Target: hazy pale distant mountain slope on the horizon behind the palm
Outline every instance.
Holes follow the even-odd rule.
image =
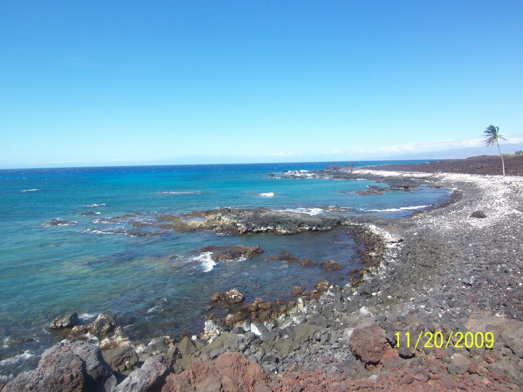
[[[523,143],[500,144],[503,154],[514,154],[523,150]],[[470,147],[447,149],[444,151],[430,151],[416,154],[404,154],[382,157],[380,159],[463,159],[476,155],[498,155],[496,147]]]

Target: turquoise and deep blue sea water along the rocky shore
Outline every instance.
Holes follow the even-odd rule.
[[[342,206],[351,209],[349,215],[394,218],[449,197],[446,189],[428,187],[360,196],[354,192],[375,183],[269,178],[271,172],[326,165],[0,170],[0,376],[34,364],[43,349],[61,339],[47,326],[65,312],[88,319],[111,310],[134,339],[143,341],[186,329],[196,333],[203,327],[203,307],[216,291],[236,287],[249,301],[274,300],[289,296],[293,285],[310,289],[320,277],[339,279],[339,272],[268,260],[282,250],[317,261],[333,259],[346,271],[352,266],[353,241],[343,231],[228,236],[154,229],[142,237],[135,236],[141,228],[133,223],[160,213],[259,206],[309,213]],[[124,215],[131,216],[114,219]],[[75,224],[46,225],[54,218]],[[211,268],[198,252],[204,245],[258,245],[265,252]]]

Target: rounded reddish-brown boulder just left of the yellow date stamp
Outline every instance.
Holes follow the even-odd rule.
[[[373,320],[361,322],[349,338],[350,351],[365,364],[377,364],[389,350],[385,331]]]

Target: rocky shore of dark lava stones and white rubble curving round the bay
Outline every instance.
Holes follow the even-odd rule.
[[[293,287],[295,301],[286,303],[246,304],[231,287],[211,298],[208,310],[222,306],[225,316],[210,314],[200,336],[157,337],[142,346],[110,313],[85,326],[74,313],[64,315],[53,321],[53,333],[74,339],[54,345],[36,370],[0,390],[521,390],[523,157],[505,158],[506,176],[498,159],[308,174],[379,180],[404,191],[420,184],[454,189],[448,203],[399,220],[263,209],[200,212],[197,228],[169,218],[179,229],[243,228],[235,234],[348,230],[363,268],[350,271],[348,283]],[[259,251],[220,249],[217,257]],[[281,257],[303,268],[311,262]]]

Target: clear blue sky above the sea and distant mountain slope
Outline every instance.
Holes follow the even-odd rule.
[[[3,2],[0,168],[521,142],[522,20],[520,0]]]

